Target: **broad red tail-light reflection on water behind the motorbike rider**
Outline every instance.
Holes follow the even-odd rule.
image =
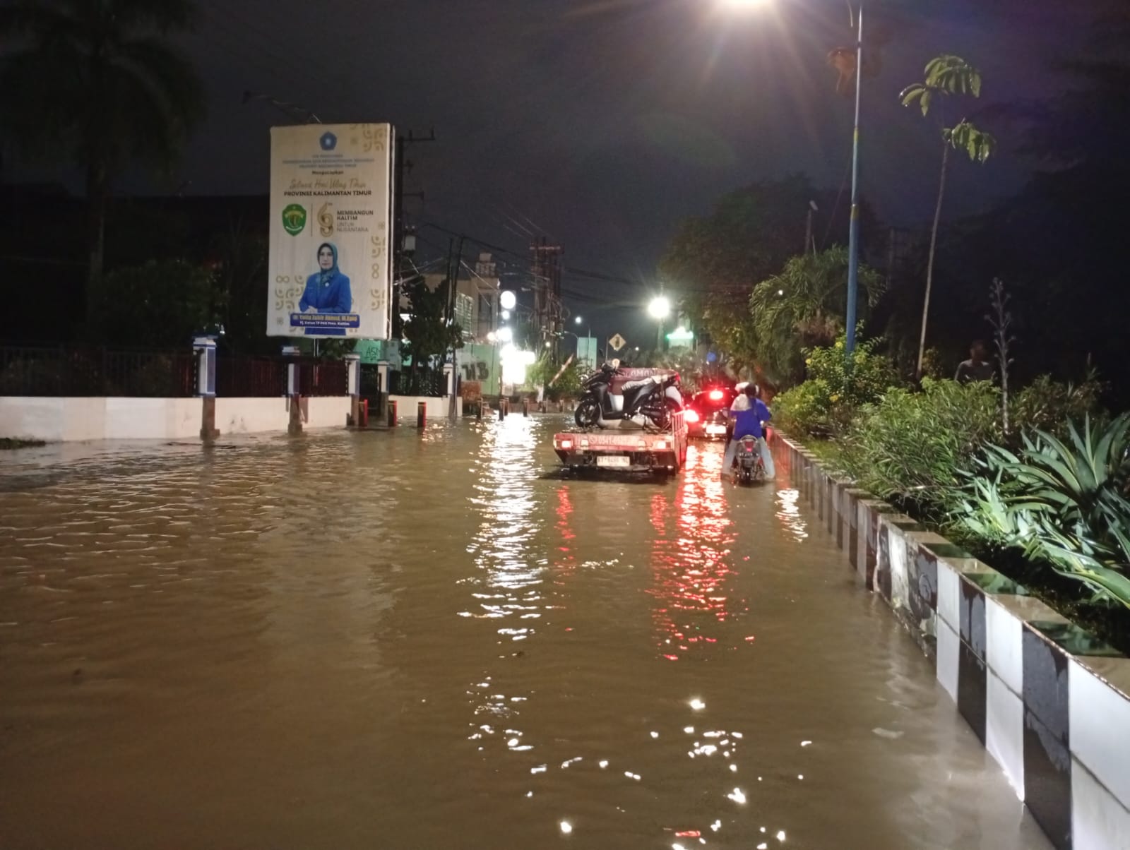
[[[718,636],[705,628],[732,613],[723,582],[733,572],[729,547],[734,532],[719,476],[721,462],[718,452],[688,449],[675,496],[673,539],[667,528],[670,502],[662,494],[651,501],[654,584],[649,592],[659,601],[652,618],[660,632],[660,651],[672,661],[694,644],[715,643]],[[696,614],[711,616],[704,621]]]

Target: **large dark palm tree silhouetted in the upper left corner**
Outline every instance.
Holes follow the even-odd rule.
[[[203,118],[203,84],[162,37],[188,29],[193,12],[191,0],[16,0],[0,9],[0,133],[27,158],[85,172],[88,284],[102,278],[114,177],[133,161],[171,166]]]

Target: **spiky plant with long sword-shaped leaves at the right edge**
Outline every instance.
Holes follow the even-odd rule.
[[[1069,440],[1025,434],[1014,454],[999,445],[976,465],[958,527],[1130,608],[1130,414],[1103,427],[1068,424]]]

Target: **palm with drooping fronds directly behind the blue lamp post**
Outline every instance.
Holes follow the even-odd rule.
[[[860,319],[883,294],[883,277],[860,266],[866,303]],[[834,245],[818,254],[793,257],[780,275],[762,280],[749,296],[757,359],[774,383],[800,376],[802,350],[832,345],[844,330],[847,301],[847,249]],[[861,298],[862,301],[862,298]]]

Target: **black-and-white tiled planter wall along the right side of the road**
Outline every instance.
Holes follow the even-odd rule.
[[[780,434],[814,508],[1057,848],[1130,850],[1130,659]]]

